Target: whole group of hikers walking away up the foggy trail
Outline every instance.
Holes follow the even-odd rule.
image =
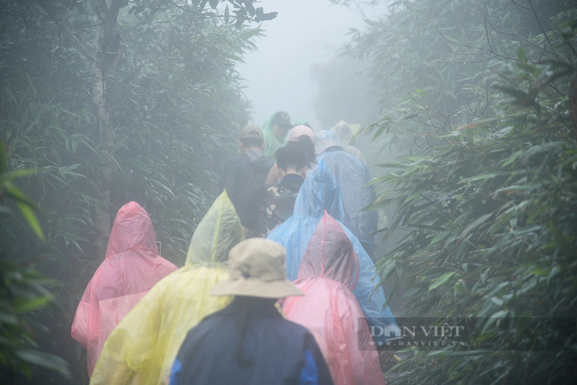
[[[351,138],[283,111],[243,128],[178,269],[148,213],[123,205],[72,324],[90,383],[384,384],[370,327],[395,319]]]

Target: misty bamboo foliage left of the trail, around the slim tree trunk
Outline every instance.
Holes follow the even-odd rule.
[[[83,38],[98,32],[91,3],[40,3],[62,5]],[[76,363],[77,382],[87,375],[70,324],[102,261],[95,257],[97,215],[114,219],[119,207],[137,201],[151,215],[163,256],[182,264],[182,250],[216,193],[227,137],[248,121],[234,65],[262,30],[234,28],[232,16],[225,20],[205,6],[138,0],[120,9],[121,54],[106,59],[104,73],[114,143],[107,151],[91,63],[79,46],[36,2],[0,1],[0,136],[8,170],[36,174],[13,185],[46,211],[39,222],[45,243],[8,217],[0,218],[0,242],[11,260],[42,255],[36,267],[61,283],[55,295],[63,312],[47,311],[42,322],[58,340],[54,352]],[[96,192],[110,159],[109,205]]]

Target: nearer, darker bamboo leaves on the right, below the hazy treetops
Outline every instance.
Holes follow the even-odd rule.
[[[476,322],[466,346],[407,348],[389,383],[575,382],[575,333],[563,339],[555,327],[577,316],[576,20],[568,9],[545,35],[494,44],[500,56],[456,91],[473,100],[443,109],[430,97],[438,89],[422,90],[412,110],[401,101],[375,125],[376,136],[395,127],[432,143],[384,163],[398,170],[375,181],[387,190],[373,205],[396,206],[384,236],[406,230],[381,277],[395,282],[406,316]]]

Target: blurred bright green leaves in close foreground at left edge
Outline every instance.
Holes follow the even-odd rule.
[[[0,141],[0,218],[14,215],[4,203],[10,199],[16,203],[28,225],[40,239],[44,239],[42,229],[34,213],[36,204],[28,199],[12,182],[30,174],[29,170],[6,170],[5,144]],[[0,250],[0,380],[12,381],[18,375],[31,377],[35,366],[51,369],[72,380],[68,363],[54,354],[38,350],[36,339],[40,329],[31,327],[27,320],[30,312],[46,306],[53,298],[46,289],[53,284],[51,279],[40,276],[30,266],[12,263],[4,258]]]

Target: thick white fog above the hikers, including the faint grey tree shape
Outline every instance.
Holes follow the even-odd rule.
[[[279,110],[293,121],[307,119],[316,132],[340,119],[366,121],[372,112],[368,85],[355,75],[362,63],[339,58],[350,28],[363,28],[362,14],[328,0],[271,0],[264,6],[279,14],[263,23],[267,36],[238,67],[252,100],[253,123],[262,125]],[[374,9],[362,11],[372,16]]]

